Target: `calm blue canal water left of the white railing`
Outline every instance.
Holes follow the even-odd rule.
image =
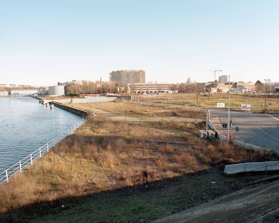
[[[0,173],[80,120],[35,98],[0,98]]]

